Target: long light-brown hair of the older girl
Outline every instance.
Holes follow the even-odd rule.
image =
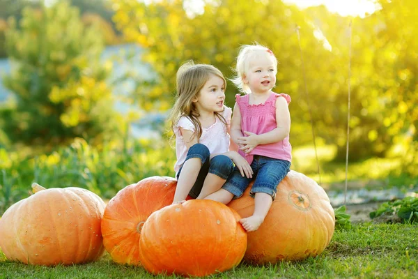
[[[174,126],[180,120],[180,117],[187,116],[192,121],[194,126],[194,135],[197,136],[198,141],[202,135],[202,126],[198,119],[200,116],[196,110],[193,100],[199,95],[199,92],[203,86],[208,82],[211,75],[224,80],[224,86],[226,88],[226,80],[221,71],[212,65],[207,64],[194,64],[193,61],[187,61],[177,71],[177,92],[176,103],[174,103],[173,110],[169,115],[169,126],[173,131]],[[226,125],[224,116],[219,112],[215,112],[215,116]],[[172,138],[174,135],[172,136]]]

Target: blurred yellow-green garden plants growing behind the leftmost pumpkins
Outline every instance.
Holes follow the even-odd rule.
[[[49,154],[0,148],[0,216],[27,197],[31,183],[45,188],[80,187],[111,199],[118,190],[150,176],[174,176],[176,152],[162,141],[114,140],[92,146],[76,138]]]

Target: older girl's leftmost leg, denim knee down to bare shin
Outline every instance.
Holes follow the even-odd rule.
[[[202,165],[206,163],[206,160],[209,160],[209,157],[209,149],[205,145],[194,144],[190,146],[185,163],[180,169],[173,204],[186,199],[196,182]]]

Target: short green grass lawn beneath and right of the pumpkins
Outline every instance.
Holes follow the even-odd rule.
[[[208,278],[418,278],[418,224],[359,223],[337,231],[316,258],[247,266]],[[0,262],[0,278],[176,278],[152,276],[141,267],[123,266],[105,255],[75,266],[26,266]]]

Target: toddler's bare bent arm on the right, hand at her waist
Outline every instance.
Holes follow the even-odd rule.
[[[277,128],[261,135],[245,131],[246,136],[238,138],[238,144],[243,145],[241,149],[245,153],[249,153],[260,144],[280,142],[289,135],[291,130],[291,114],[288,103],[283,97],[277,98],[276,100],[276,123]]]

